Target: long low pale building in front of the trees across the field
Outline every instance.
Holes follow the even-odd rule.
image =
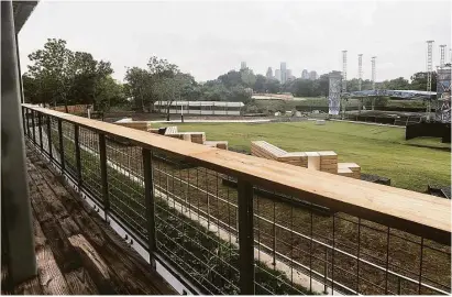
[[[157,101],[155,110],[165,113],[168,101]],[[173,101],[169,113],[200,114],[200,116],[241,116],[243,102],[229,101]]]

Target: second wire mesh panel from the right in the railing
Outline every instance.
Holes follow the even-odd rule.
[[[219,173],[153,151],[159,253],[206,294],[239,294],[236,190]]]

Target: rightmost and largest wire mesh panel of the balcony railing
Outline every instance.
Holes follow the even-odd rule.
[[[254,213],[256,293],[451,290],[450,246],[422,246],[419,237],[258,187]]]

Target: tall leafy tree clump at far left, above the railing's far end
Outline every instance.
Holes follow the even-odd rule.
[[[109,62],[96,61],[91,54],[73,52],[66,41],[49,38],[43,50],[29,55],[32,62],[23,75],[24,96],[27,102],[56,105],[98,105],[120,98],[121,87],[110,87],[109,98],[102,88],[113,70]],[[114,81],[114,80],[113,80]],[[119,85],[114,81],[115,85]],[[118,94],[111,95],[117,90]]]

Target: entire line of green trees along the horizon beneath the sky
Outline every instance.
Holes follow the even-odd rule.
[[[90,53],[74,52],[59,38],[48,38],[42,50],[29,55],[31,65],[23,75],[26,102],[53,106],[93,105],[95,110],[107,111],[113,106],[132,106],[139,111],[154,110],[157,101],[173,100],[242,101],[251,100],[253,92],[290,92],[296,97],[327,97],[328,74],[318,79],[295,79],[282,85],[275,78],[255,75],[245,68],[230,70],[217,79],[198,82],[177,65],[151,56],[146,67],[129,67],[124,82],[112,78],[110,62],[97,61]],[[432,76],[436,90],[437,76]],[[425,90],[427,73],[416,73],[410,81],[403,77],[376,82],[378,89]],[[356,78],[348,80],[348,91],[359,90]],[[372,89],[372,81],[362,80],[362,89]]]

